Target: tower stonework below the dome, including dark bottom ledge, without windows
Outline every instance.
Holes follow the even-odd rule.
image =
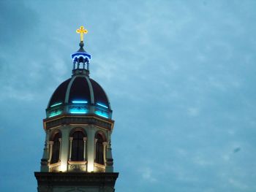
[[[41,161],[41,172],[35,172],[38,192],[112,192],[118,173],[113,172],[113,158],[110,147],[110,136],[113,120],[91,116],[61,115],[44,120],[46,145]],[[86,161],[70,161],[70,134],[72,131],[86,132]],[[50,164],[53,145],[52,134],[61,132],[59,162]],[[104,164],[95,162],[95,135],[104,134]],[[46,162],[46,163],[45,163]]]

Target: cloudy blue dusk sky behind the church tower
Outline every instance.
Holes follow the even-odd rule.
[[[0,1],[0,191],[37,191],[51,94],[89,33],[116,191],[256,191],[256,1]],[[14,190],[15,188],[15,190]]]

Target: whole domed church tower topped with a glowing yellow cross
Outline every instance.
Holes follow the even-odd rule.
[[[50,98],[43,120],[45,147],[40,172],[35,172],[38,192],[115,191],[111,133],[114,121],[103,88],[89,77],[91,55],[83,49],[71,55],[72,77]]]

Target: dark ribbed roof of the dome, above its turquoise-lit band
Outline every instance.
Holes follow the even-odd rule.
[[[89,105],[99,104],[110,110],[110,102],[103,88],[86,75],[74,75],[62,82],[51,96],[48,108],[56,104],[72,104],[74,102],[86,102]]]

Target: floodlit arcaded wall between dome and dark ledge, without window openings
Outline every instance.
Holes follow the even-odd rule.
[[[67,123],[68,122],[68,123]],[[41,172],[111,172],[112,166],[108,160],[112,158],[110,153],[110,135],[113,129],[113,120],[103,120],[95,115],[89,116],[66,116],[61,115],[57,118],[47,118],[44,120],[46,136],[46,149],[41,162]],[[82,130],[86,133],[84,138],[84,161],[70,161],[72,147],[72,131]],[[51,164],[53,153],[53,134],[61,133],[59,162]],[[95,162],[97,133],[102,134],[103,159],[104,164]],[[46,153],[46,154],[45,154]],[[47,161],[47,164],[43,162]],[[108,168],[108,169],[106,169]],[[113,171],[112,171],[113,172]]]

